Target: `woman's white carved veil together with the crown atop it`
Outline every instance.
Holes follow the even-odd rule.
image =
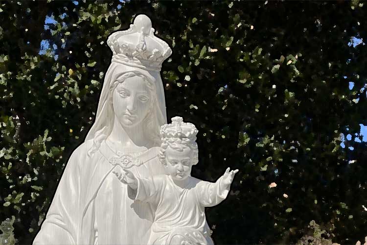
[[[108,136],[111,133],[114,112],[112,103],[109,102],[112,97],[110,88],[118,77],[133,72],[143,75],[155,87],[156,102],[149,116],[158,134],[151,140],[153,146],[160,146],[159,128],[167,123],[160,70],[161,63],[172,53],[172,50],[154,35],[154,29],[151,26],[147,16],[138,15],[128,30],[114,32],[108,38],[107,43],[113,51],[112,62],[104,78],[96,118],[86,141],[95,139],[98,135]]]

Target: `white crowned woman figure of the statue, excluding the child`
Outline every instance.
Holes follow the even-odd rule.
[[[155,207],[128,198],[114,172],[164,173],[157,158],[167,123],[160,71],[172,51],[145,15],[107,44],[113,56],[95,122],[69,158],[34,245],[148,243]]]

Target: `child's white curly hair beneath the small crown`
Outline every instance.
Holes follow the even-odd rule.
[[[159,159],[162,165],[167,165],[165,151],[167,147],[171,147],[177,151],[183,151],[184,148],[189,147],[191,149],[191,164],[196,165],[199,162],[199,150],[198,144],[195,139],[190,138],[162,138],[161,150],[159,153]]]

